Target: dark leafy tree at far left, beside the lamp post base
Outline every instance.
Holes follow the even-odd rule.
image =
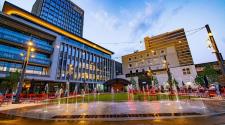
[[[7,89],[8,91],[9,90],[15,91],[17,84],[19,82],[19,79],[20,79],[20,73],[18,71],[11,72],[8,76],[2,79],[0,87],[3,89],[3,91],[6,91]]]

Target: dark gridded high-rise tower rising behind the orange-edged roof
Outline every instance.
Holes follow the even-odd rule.
[[[32,13],[70,33],[83,36],[84,11],[70,0],[36,0]]]

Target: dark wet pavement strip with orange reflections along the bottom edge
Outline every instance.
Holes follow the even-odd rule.
[[[210,117],[136,121],[37,120],[0,115],[0,125],[225,125],[225,114]]]

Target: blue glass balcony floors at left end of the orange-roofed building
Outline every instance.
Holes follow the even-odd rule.
[[[36,36],[31,37],[6,25],[1,25],[0,27],[0,71],[21,71],[22,62],[25,58],[25,56],[21,55],[26,55],[26,44],[30,39],[35,44],[37,51],[32,53],[34,57],[30,59],[30,65],[27,67],[26,73],[35,75],[48,74],[47,67],[51,64],[49,57],[53,51],[51,43]]]

